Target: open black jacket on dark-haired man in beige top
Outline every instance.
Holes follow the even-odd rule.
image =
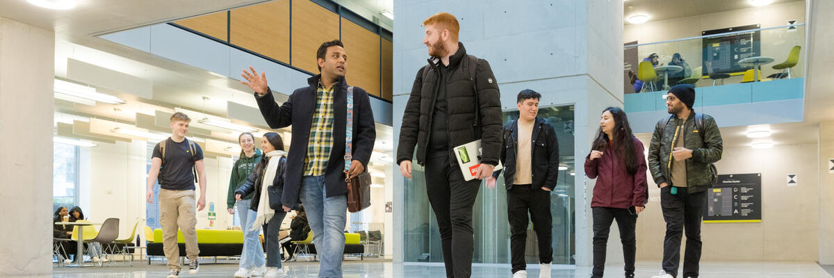
[[[515,156],[518,152],[519,128],[518,119],[504,124],[504,144],[501,151],[501,162],[504,164],[504,186],[510,190],[515,179]],[[542,186],[553,190],[559,178],[559,141],[556,131],[546,119],[535,118],[533,140],[530,149],[530,166],[532,169],[533,188]],[[500,171],[492,174],[498,178]]]

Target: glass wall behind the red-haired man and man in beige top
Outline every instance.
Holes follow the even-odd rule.
[[[506,111],[505,122],[518,117]],[[560,150],[559,181],[550,194],[553,217],[553,263],[575,264],[574,250],[574,111],[573,105],[540,108],[539,117],[548,119],[556,131]],[[414,179],[404,180],[404,261],[443,262],[440,231],[425,190],[425,172],[414,161]],[[483,187],[475,200],[475,263],[510,263],[510,227],[507,221],[507,193],[503,174],[495,189]],[[537,264],[535,232],[528,227],[526,260]]]

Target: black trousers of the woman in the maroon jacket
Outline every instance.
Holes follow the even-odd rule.
[[[594,270],[591,277],[601,278],[605,271],[605,250],[608,247],[608,233],[614,220],[617,220],[617,228],[620,228],[625,275],[634,275],[637,215],[631,215],[627,209],[600,206],[590,209],[594,213]]]

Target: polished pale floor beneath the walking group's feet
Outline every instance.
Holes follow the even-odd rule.
[[[203,262],[201,260],[201,262]],[[220,262],[211,264],[206,260],[200,265],[197,275],[184,273],[180,277],[231,277],[237,264],[234,262]],[[649,278],[659,271],[657,262],[640,262],[637,264],[637,277]],[[315,262],[292,262],[284,264],[284,270],[289,277],[316,277],[319,265]],[[430,278],[445,277],[443,265],[414,265],[394,264],[386,260],[346,261],[343,266],[344,277],[402,277],[402,278]],[[622,277],[622,265],[606,267],[605,277]],[[510,265],[475,265],[472,277],[510,277]],[[54,277],[164,277],[168,270],[162,262],[154,261],[153,265],[134,264],[133,266],[113,265],[106,267],[54,267]],[[529,277],[538,277],[538,265],[530,265]],[[590,268],[554,265],[552,277],[590,277]],[[740,278],[740,277],[834,277],[820,265],[813,262],[704,262],[701,264],[703,278]]]

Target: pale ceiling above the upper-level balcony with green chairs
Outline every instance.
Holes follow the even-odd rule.
[[[802,0],[776,0],[773,3],[789,3]],[[625,0],[623,20],[635,14],[649,15],[649,21],[670,18],[686,18],[706,13],[721,13],[741,8],[751,8],[749,0]]]

